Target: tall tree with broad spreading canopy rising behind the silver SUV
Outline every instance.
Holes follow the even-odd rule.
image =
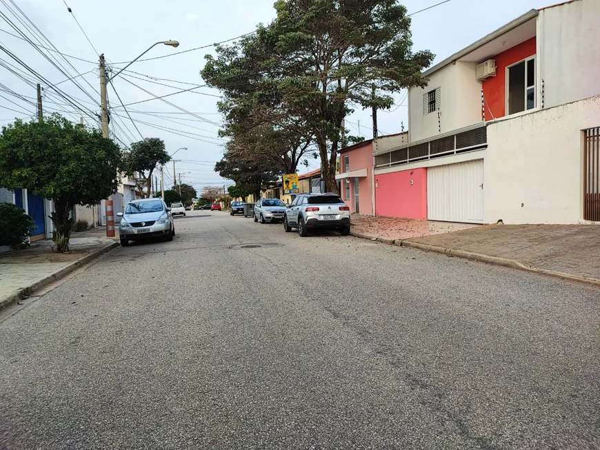
[[[226,99],[264,105],[306,125],[326,188],[352,108],[387,109],[392,94],[424,86],[434,55],[412,52],[410,17],[397,0],[278,0],[277,17],[239,43],[218,45],[202,70]]]

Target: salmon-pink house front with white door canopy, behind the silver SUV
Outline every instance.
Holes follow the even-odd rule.
[[[372,194],[372,168],[373,168],[373,147],[372,143],[354,148],[349,152],[340,153],[340,170],[345,172],[344,156],[350,157],[350,172],[352,170],[366,169],[366,178],[359,178],[359,213],[371,216],[373,214],[373,194]],[[354,178],[350,178],[350,200],[346,201],[344,194],[344,183],[341,181],[341,196],[343,201],[350,207],[350,212],[354,211]]]

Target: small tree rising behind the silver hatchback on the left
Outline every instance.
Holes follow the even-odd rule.
[[[131,149],[123,155],[126,174],[134,178],[137,189],[144,198],[152,194],[152,173],[159,165],[171,161],[165,150],[165,143],[159,138],[146,138],[131,144]],[[136,176],[139,175],[139,176]],[[144,191],[146,187],[146,191]]]

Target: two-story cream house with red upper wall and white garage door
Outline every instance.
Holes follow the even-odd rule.
[[[376,197],[394,185],[438,221],[596,217],[598,17],[598,0],[530,10],[426,70],[408,143],[373,152]]]

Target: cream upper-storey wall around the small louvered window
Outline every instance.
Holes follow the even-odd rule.
[[[457,61],[431,74],[425,88],[409,89],[410,142],[481,122],[481,81],[475,76],[476,67],[477,63]],[[437,112],[423,115],[423,94],[435,88],[441,88],[439,123]]]

